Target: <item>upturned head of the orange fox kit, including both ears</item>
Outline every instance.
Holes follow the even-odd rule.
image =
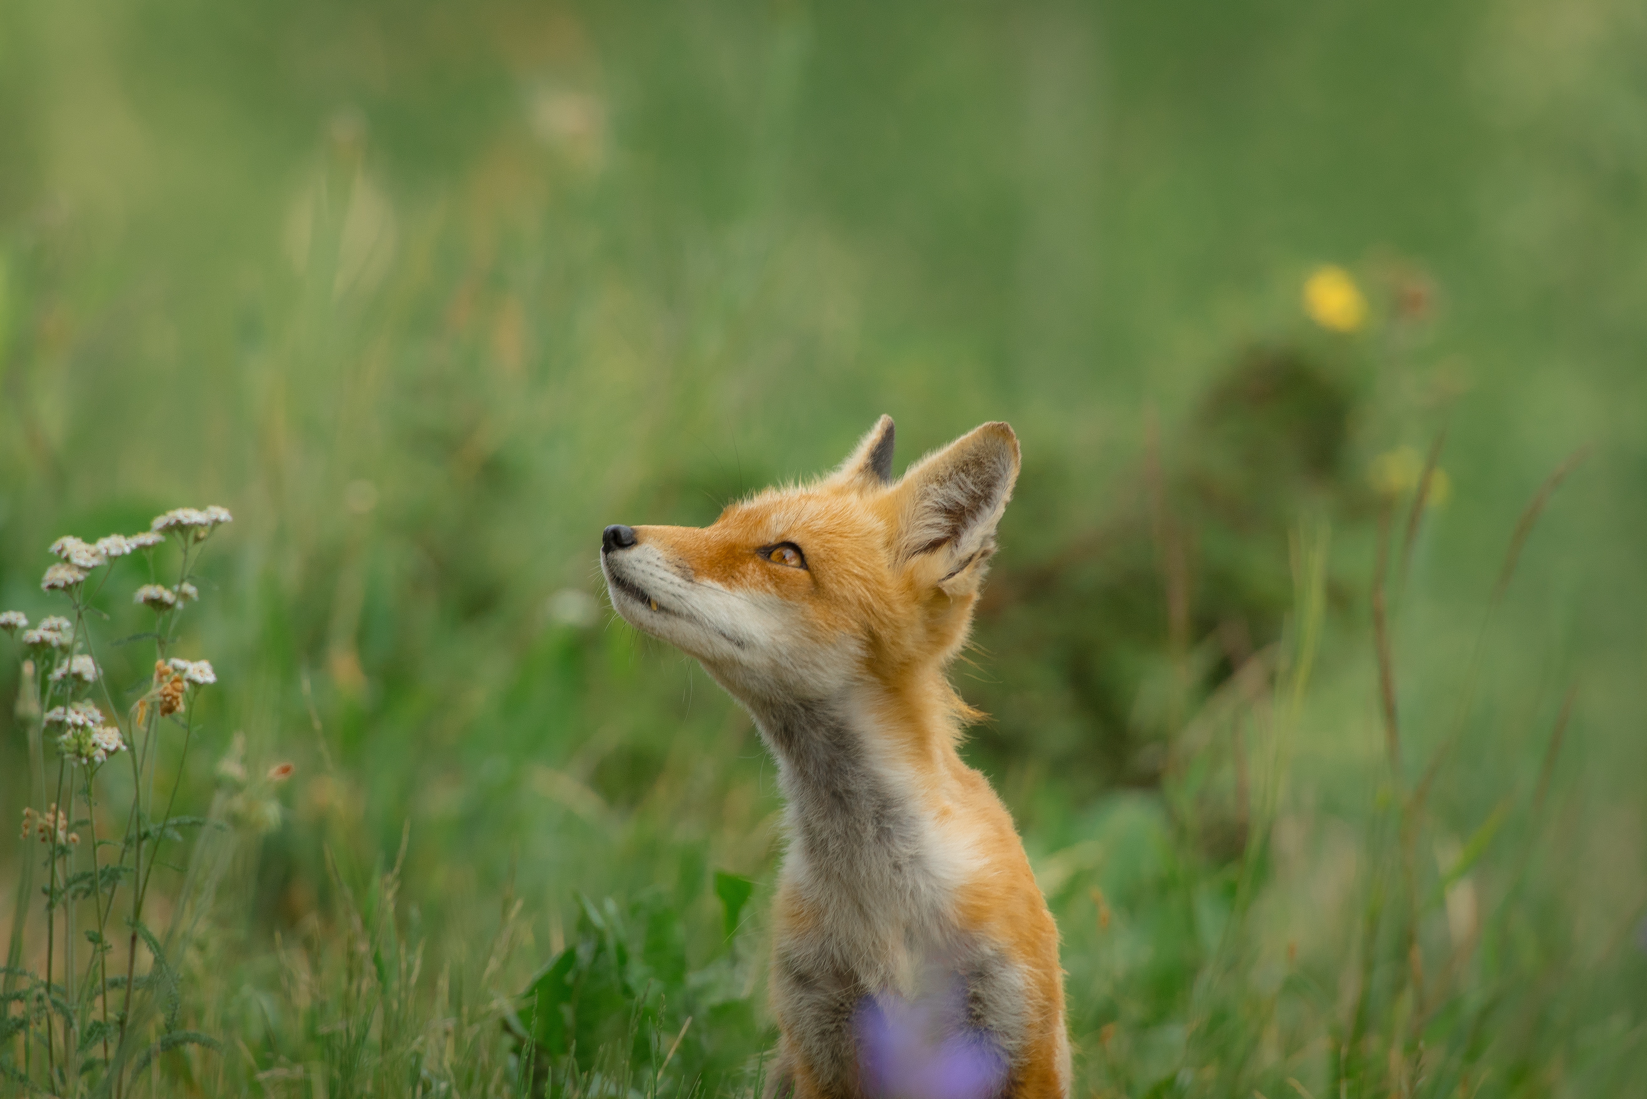
[[[965,643],[1018,466],[987,423],[894,480],[881,416],[833,472],[710,526],[608,526],[601,569],[618,614],[749,706],[921,681]]]

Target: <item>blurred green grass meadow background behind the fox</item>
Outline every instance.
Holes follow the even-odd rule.
[[[1479,1020],[1435,1041],[1477,1074],[1402,1094],[1622,1094],[1647,1033],[1644,48],[1621,0],[0,8],[0,602],[49,612],[61,533],[229,505],[184,652],[224,684],[191,781],[236,732],[298,767],[194,948],[194,1010],[245,1053],[168,1079],[354,1094],[326,1025],[359,1004],[316,992],[320,959],[349,895],[385,911],[407,826],[418,1027],[524,987],[606,897],[679,915],[710,972],[716,870],[758,885],[758,958],[781,837],[748,721],[567,592],[600,597],[604,523],[710,522],[886,411],[899,466],[983,420],[1023,439],[957,678],[1099,1094],[1336,1086],[1390,828],[1369,471],[1444,431],[1392,610],[1403,783],[1458,734],[1425,888],[1510,806],[1467,875],[1482,920],[1509,903],[1482,938],[1435,898],[1421,938],[1469,972],[1448,1010]],[[1301,311],[1324,262],[1367,291],[1364,332]],[[1517,517],[1584,446],[1482,633]],[[1183,737],[1296,625],[1324,525],[1260,874],[1230,795],[1257,734]],[[1248,870],[1237,979],[1215,898]],[[733,969],[660,984],[708,1004]],[[715,1002],[746,1017],[695,1023],[703,1071],[764,1040],[736,972]],[[507,1045],[496,1018],[471,1038],[448,1068]],[[1351,1094],[1385,1094],[1364,1071]]]

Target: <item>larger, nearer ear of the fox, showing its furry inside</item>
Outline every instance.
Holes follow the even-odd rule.
[[[899,556],[929,558],[945,589],[962,576],[982,576],[1018,464],[1018,436],[1005,423],[975,428],[921,459],[898,487],[904,495]]]

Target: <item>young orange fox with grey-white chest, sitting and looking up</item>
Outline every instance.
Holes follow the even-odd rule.
[[[945,678],[1018,461],[987,423],[894,479],[881,416],[814,484],[601,540],[618,614],[697,656],[777,760],[769,1094],[1069,1094],[1057,928]]]

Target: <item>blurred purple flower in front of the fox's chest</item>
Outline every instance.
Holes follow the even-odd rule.
[[[1006,1056],[988,1032],[965,1025],[959,984],[914,1004],[865,999],[853,1028],[871,1099],[991,1099],[1006,1084]]]

